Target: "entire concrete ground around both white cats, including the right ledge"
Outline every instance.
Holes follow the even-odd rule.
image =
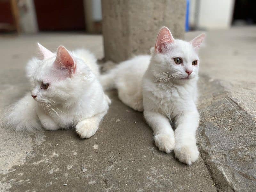
[[[198,32],[186,34],[190,40]],[[102,36],[51,33],[0,37],[0,191],[254,191],[256,188],[256,28],[207,32],[200,52],[201,156],[193,165],[157,150],[140,112],[116,91],[96,134],[10,132],[9,106],[28,91],[24,66],[36,42],[85,47],[103,57]]]

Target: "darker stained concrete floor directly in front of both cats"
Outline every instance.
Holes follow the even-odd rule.
[[[116,92],[109,94],[113,105],[90,139],[60,130],[44,132],[36,144],[36,136],[24,134],[33,146],[28,150],[19,145],[25,163],[1,174],[2,190],[216,191],[201,158],[187,166],[159,152],[142,113],[124,106]]]

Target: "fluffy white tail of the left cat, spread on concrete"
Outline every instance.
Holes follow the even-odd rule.
[[[6,123],[16,132],[36,132],[42,129],[36,115],[36,101],[30,93],[13,105],[11,113],[7,115]]]

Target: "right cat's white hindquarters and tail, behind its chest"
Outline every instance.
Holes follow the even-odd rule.
[[[142,76],[148,68],[150,56],[140,55],[121,62],[107,74],[100,76],[105,90],[116,88],[118,97],[134,110],[143,111]]]

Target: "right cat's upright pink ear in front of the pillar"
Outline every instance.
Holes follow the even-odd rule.
[[[174,38],[171,31],[167,27],[162,27],[156,37],[155,51],[157,53],[162,53],[163,48],[165,48],[167,44],[171,44],[173,42]]]

